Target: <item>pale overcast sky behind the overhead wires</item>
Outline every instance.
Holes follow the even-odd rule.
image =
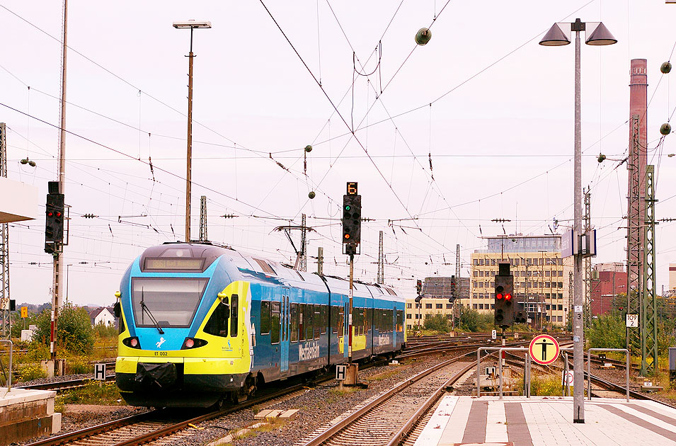
[[[560,233],[573,217],[574,45],[538,42],[553,23],[578,17],[603,21],[618,40],[582,48],[583,185],[599,231],[595,262],[626,261],[626,230],[618,229],[626,226],[626,164],[609,160],[628,153],[633,58],[648,59],[656,215],[676,217],[676,157],[667,156],[676,147],[659,133],[676,106],[676,71],[659,69],[676,45],[676,5],[264,4],[69,1],[65,193],[72,219],[64,261],[71,302],[112,303],[144,248],[183,240],[190,31],[171,23],[190,18],[213,26],[195,30],[193,40],[195,239],[206,195],[210,240],[293,263],[292,246],[274,229],[300,224],[305,213],[314,229],[309,254],[323,246],[325,273],[345,277],[340,205],[345,183],[357,181],[363,216],[373,220],[362,226],[355,275],[375,280],[384,231],[386,283],[412,292],[416,278],[454,274],[457,244],[467,275],[471,252],[485,246],[481,236],[503,234],[491,219],[510,220],[508,234],[541,235],[551,234],[556,218]],[[0,0],[0,20],[8,176],[40,189],[42,212],[47,181],[57,178],[51,125],[59,121],[62,4]],[[432,40],[418,46],[423,27]],[[609,160],[599,164],[600,153]],[[37,167],[20,164],[26,157]],[[676,262],[675,229],[667,222],[657,230],[658,290]],[[299,233],[292,236],[298,245]],[[51,299],[43,242],[44,219],[11,225],[17,302]],[[314,258],[308,270],[316,270]]]

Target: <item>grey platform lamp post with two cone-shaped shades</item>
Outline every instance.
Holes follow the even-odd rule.
[[[563,28],[561,28],[563,25]],[[571,43],[568,37],[570,33],[563,29],[570,25],[570,30],[575,31],[575,154],[573,171],[573,236],[582,233],[582,130],[580,121],[580,31],[586,31],[587,23],[575,19],[573,23],[554,23],[549,28],[540,45],[561,46]],[[590,23],[591,28],[592,23]],[[585,40],[587,45],[612,45],[617,39],[603,25],[598,23],[596,28]],[[582,256],[573,253],[573,423],[585,422],[585,377],[584,377],[584,318],[582,310]]]

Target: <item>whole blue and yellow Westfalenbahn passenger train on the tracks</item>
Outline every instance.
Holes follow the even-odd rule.
[[[115,380],[134,406],[212,406],[348,360],[349,282],[231,248],[168,243],[127,268]],[[406,343],[404,299],[355,282],[353,360]]]

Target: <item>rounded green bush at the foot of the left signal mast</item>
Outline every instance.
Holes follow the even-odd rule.
[[[37,318],[38,330],[34,341],[50,343],[51,312],[42,311]],[[72,353],[91,353],[94,348],[94,331],[89,314],[73,304],[65,304],[59,309],[57,321],[57,343]]]

